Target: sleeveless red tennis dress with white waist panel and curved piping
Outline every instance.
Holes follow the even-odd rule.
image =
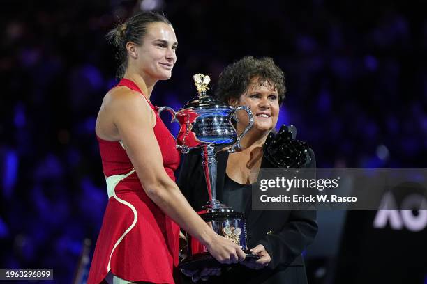
[[[126,86],[142,95],[140,88],[128,79],[121,79],[117,86]],[[175,180],[174,171],[179,165],[176,141],[158,116],[157,108],[149,104],[156,113],[154,134],[163,166]],[[127,281],[174,283],[179,226],[145,194],[121,143],[99,137],[98,142],[109,200],[87,283],[102,282],[109,271]]]

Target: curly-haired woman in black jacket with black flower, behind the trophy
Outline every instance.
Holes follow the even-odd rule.
[[[228,154],[218,152],[218,200],[244,212],[247,217],[251,252],[258,260],[223,269],[183,271],[211,283],[306,283],[302,251],[313,242],[317,233],[315,211],[252,211],[251,185],[254,171],[260,168],[315,168],[313,150],[294,140],[290,127],[283,126],[275,134],[274,127],[285,98],[283,72],[271,58],[246,56],[229,65],[220,75],[216,88],[218,100],[233,106],[250,107],[254,124],[241,141],[243,150]],[[245,113],[238,113],[240,134],[248,125]],[[183,157],[178,184],[190,204],[199,210],[208,200],[200,153]],[[189,281],[188,278],[184,281]]]

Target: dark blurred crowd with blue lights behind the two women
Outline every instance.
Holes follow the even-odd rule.
[[[163,10],[179,41],[158,106],[190,100],[195,73],[214,85],[232,61],[271,56],[286,74],[279,123],[296,125],[318,167],[426,168],[422,1],[6,0],[0,268],[53,268],[68,283],[84,238],[95,242],[107,191],[94,125],[117,83],[105,33],[141,8]]]

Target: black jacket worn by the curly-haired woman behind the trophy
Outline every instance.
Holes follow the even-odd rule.
[[[305,166],[315,168],[315,155]],[[209,200],[202,168],[200,150],[181,156],[181,171],[177,184],[194,210],[199,211]],[[217,199],[222,200],[225,190],[225,168],[228,153],[218,152]],[[275,168],[262,159],[261,168]],[[212,276],[208,283],[307,283],[301,253],[311,244],[317,233],[316,212],[311,211],[255,211],[251,210],[246,221],[248,247],[262,244],[271,257],[268,267],[262,270],[236,265],[219,278]],[[187,278],[188,281],[189,278]],[[186,282],[185,279],[183,282]],[[206,283],[206,282],[203,282]]]

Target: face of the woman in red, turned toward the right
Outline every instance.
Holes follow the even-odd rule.
[[[147,81],[167,80],[177,62],[177,37],[170,24],[148,24],[142,45],[135,47],[137,66]]]

